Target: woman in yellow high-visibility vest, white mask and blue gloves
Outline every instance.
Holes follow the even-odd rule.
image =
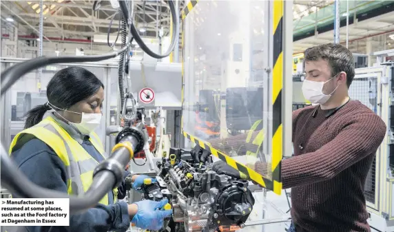
[[[10,146],[10,156],[32,182],[69,194],[87,190],[94,168],[107,156],[93,132],[101,121],[103,88],[92,72],[81,67],[67,67],[54,75],[47,87],[48,103],[28,112],[25,130]],[[43,119],[51,109],[54,112]],[[141,186],[144,178],[134,176],[133,188]],[[124,187],[118,189],[124,196]],[[51,232],[126,231],[130,221],[142,229],[158,230],[163,218],[172,214],[156,210],[164,207],[165,200],[115,202],[118,189],[107,193],[95,208],[70,215],[69,228],[54,226]],[[47,227],[34,226],[28,231],[48,231]]]

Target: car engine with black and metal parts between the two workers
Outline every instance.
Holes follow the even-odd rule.
[[[161,231],[236,231],[245,226],[254,198],[247,180],[211,170],[211,161],[177,162],[163,158],[156,164],[156,182],[143,185],[143,198],[172,205],[173,217]]]

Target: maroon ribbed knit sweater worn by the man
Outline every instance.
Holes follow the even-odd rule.
[[[295,156],[282,160],[282,184],[291,187],[297,232],[371,231],[363,190],[385,134],[382,119],[360,101],[293,112]]]

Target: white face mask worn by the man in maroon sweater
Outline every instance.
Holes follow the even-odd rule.
[[[335,75],[337,76],[337,75]],[[335,78],[335,76],[333,78]],[[333,78],[329,79],[331,81]],[[307,79],[304,80],[304,83],[302,83],[302,94],[304,94],[304,97],[307,98],[308,101],[310,101],[313,104],[324,104],[327,101],[329,101],[329,98],[332,96],[333,92],[338,88],[335,87],[333,92],[331,94],[323,94],[323,87],[324,84],[329,82],[321,82],[321,81],[309,81]]]

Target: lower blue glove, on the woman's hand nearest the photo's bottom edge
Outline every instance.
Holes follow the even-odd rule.
[[[141,229],[158,231],[163,227],[164,218],[168,218],[172,215],[172,209],[162,210],[167,203],[167,199],[161,200],[160,202],[155,202],[153,200],[134,202],[138,207],[138,211],[136,215],[134,215],[132,223]]]

